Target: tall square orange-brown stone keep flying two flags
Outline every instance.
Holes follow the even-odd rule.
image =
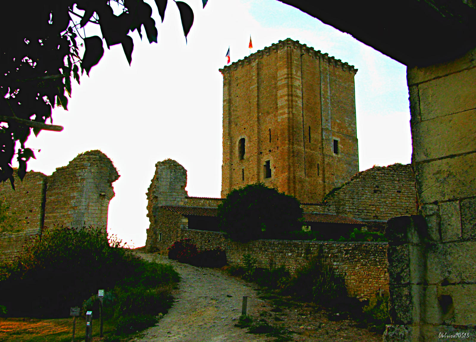
[[[353,66],[288,38],[220,72],[222,197],[263,182],[320,202],[358,172]]]

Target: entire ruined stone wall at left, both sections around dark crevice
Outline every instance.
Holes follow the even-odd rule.
[[[119,174],[101,151],[79,154],[51,176],[29,171],[23,181],[15,177],[16,190],[0,184],[0,199],[18,218],[14,231],[0,233],[0,261],[14,259],[25,241],[45,228],[93,226],[107,232],[112,183]]]

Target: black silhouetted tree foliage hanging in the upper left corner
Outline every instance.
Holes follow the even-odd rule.
[[[205,7],[208,0],[202,0]],[[180,13],[185,39],[193,24],[193,11],[182,1],[174,1]],[[155,0],[164,20],[167,0]],[[111,6],[119,8],[116,15]],[[143,0],[26,0],[6,1],[0,11],[0,180],[10,179],[14,188],[12,160],[19,163],[18,176],[26,174],[27,162],[35,158],[25,143],[30,130],[60,131],[52,123],[52,108],[68,110],[71,78],[99,63],[108,49],[121,44],[129,62],[134,44],[129,36],[137,30],[149,43],[157,43],[158,31],[152,8]],[[87,24],[97,24],[99,36],[81,37]],[[142,29],[143,28],[143,29]],[[80,47],[84,54],[80,56]],[[81,69],[79,72],[79,68]],[[19,143],[15,153],[16,143]]]

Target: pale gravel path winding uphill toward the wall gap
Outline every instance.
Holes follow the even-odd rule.
[[[137,342],[238,342],[269,341],[263,335],[246,333],[234,326],[241,315],[242,296],[248,298],[248,314],[257,314],[266,303],[244,281],[218,270],[181,264],[154,254],[137,253],[144,259],[156,257],[173,264],[182,278],[174,293],[175,303],[159,324],[143,332]]]

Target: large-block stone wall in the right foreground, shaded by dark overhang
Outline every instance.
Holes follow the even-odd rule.
[[[421,219],[389,226],[392,325],[385,341],[476,336],[476,49],[408,68]],[[460,338],[458,338],[460,340]],[[456,341],[456,340],[455,340]]]

